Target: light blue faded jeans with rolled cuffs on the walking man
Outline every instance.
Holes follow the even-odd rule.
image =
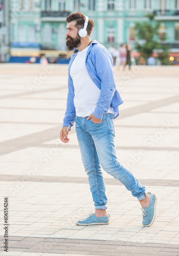
[[[101,123],[86,119],[87,117],[76,116],[76,133],[95,208],[107,208],[101,166],[108,174],[124,184],[131,191],[132,196],[137,197],[138,200],[144,199],[145,187],[118,162],[116,157],[113,114],[104,113]]]

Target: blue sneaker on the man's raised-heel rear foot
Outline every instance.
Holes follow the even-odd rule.
[[[148,207],[141,208],[143,212],[143,222],[145,227],[149,227],[153,224],[156,213],[156,201],[157,197],[150,192],[147,193],[150,196],[150,204]]]

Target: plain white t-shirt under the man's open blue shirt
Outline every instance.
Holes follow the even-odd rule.
[[[100,96],[100,89],[92,81],[85,65],[88,47],[77,53],[70,70],[75,90],[74,105],[79,117],[91,115]],[[114,114],[114,111],[109,107],[107,113]]]

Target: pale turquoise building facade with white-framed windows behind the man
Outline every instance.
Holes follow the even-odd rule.
[[[105,47],[136,40],[135,23],[154,13],[159,41],[179,46],[179,0],[9,0],[11,54],[38,50],[65,51],[66,16],[80,11],[93,19],[91,35]],[[1,17],[1,16],[0,16]]]

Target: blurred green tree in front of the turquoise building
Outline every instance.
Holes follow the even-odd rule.
[[[147,15],[148,16],[148,15]],[[153,19],[153,15],[148,16],[150,20]],[[154,50],[160,50],[159,59],[163,65],[169,65],[169,48],[168,46],[163,46],[160,44],[159,40],[159,27],[160,23],[155,23],[152,25],[152,22],[137,22],[135,25],[135,31],[137,36],[137,42],[135,47],[138,52],[141,53],[141,56],[147,61]],[[162,38],[165,39],[165,38]]]

